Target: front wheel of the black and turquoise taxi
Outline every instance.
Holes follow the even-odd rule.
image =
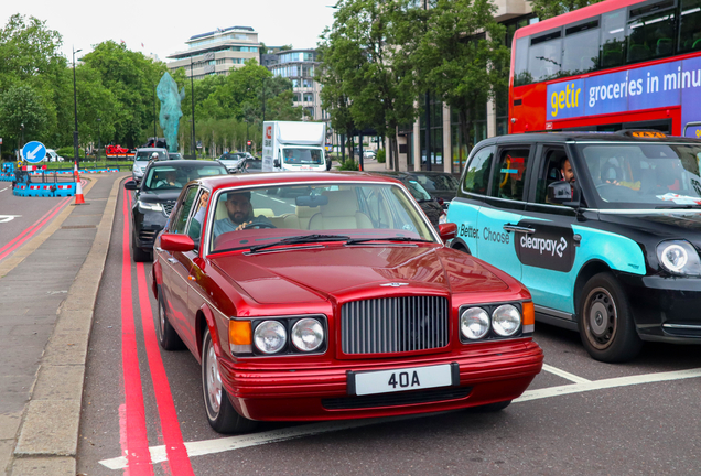
[[[578,314],[582,344],[594,359],[623,363],[640,351],[643,340],[626,295],[613,274],[598,273],[586,282]]]

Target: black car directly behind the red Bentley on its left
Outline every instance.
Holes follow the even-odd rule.
[[[141,183],[125,182],[125,188],[137,191],[131,209],[131,252],[136,262],[150,261],[153,240],[163,229],[183,186],[202,176],[226,174],[216,161],[153,161]]]

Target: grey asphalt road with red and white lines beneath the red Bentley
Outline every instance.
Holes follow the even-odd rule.
[[[287,198],[267,199],[285,207]],[[536,340],[546,367],[499,413],[263,423],[252,434],[225,437],[207,424],[195,358],[158,347],[150,264],[131,261],[128,217],[122,195],[88,355],[79,474],[701,472],[701,346],[648,344],[635,361],[607,365],[592,360],[576,334],[543,324]],[[127,472],[121,456],[128,440],[143,457]]]

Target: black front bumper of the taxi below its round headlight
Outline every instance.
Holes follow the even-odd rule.
[[[643,340],[701,344],[701,279],[621,275]]]

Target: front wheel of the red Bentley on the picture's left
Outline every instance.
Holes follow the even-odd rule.
[[[255,421],[238,414],[222,386],[219,366],[209,329],[202,339],[202,390],[209,426],[216,432],[245,433],[256,426]]]

